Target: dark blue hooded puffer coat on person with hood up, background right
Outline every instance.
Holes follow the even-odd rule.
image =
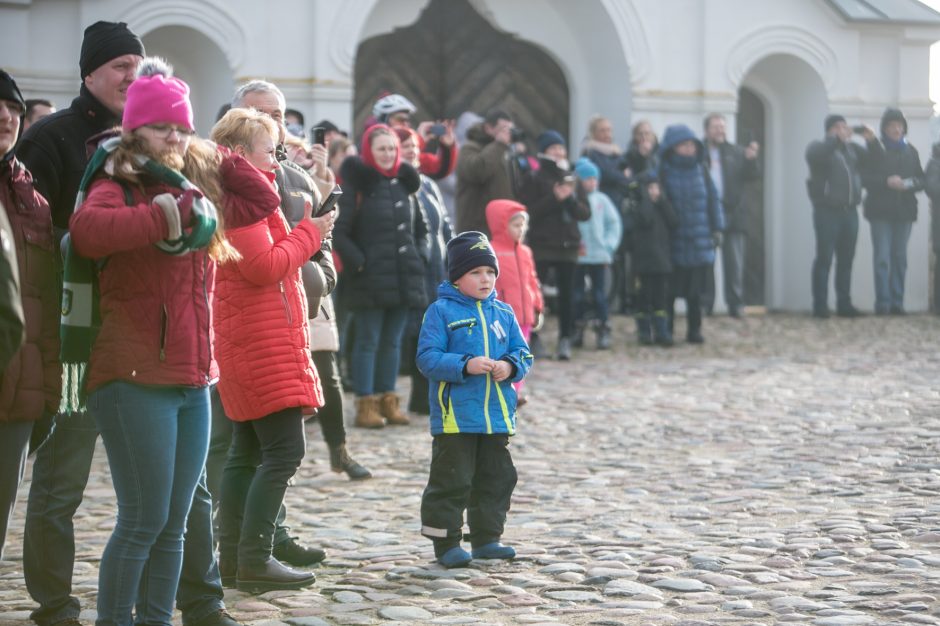
[[[694,157],[673,150],[687,140],[695,142]],[[659,150],[663,191],[679,218],[679,227],[672,233],[672,262],[678,267],[711,265],[715,262],[712,233],[724,230],[725,219],[715,185],[703,166],[705,147],[692,129],[676,124],[666,128]]]

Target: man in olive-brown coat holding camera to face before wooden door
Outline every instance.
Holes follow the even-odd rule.
[[[489,237],[486,205],[490,200],[515,200],[519,180],[516,160],[510,158],[512,118],[494,110],[467,130],[457,160],[457,232],[475,230]]]

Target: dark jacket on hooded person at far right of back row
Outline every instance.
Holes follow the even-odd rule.
[[[904,190],[888,187],[889,176],[900,176],[907,184]],[[917,219],[917,196],[924,188],[924,170],[914,146],[905,143],[899,149],[886,148],[874,142],[868,148],[868,159],[862,170],[865,195],[865,218],[913,222]]]

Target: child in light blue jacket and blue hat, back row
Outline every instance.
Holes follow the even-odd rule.
[[[581,254],[575,274],[575,315],[577,333],[575,347],[584,344],[584,329],[587,326],[585,279],[590,280],[591,297],[594,302],[594,329],[597,333],[597,349],[610,348],[610,324],[608,323],[607,284],[610,281],[610,264],[620,246],[623,224],[613,202],[600,191],[601,171],[587,157],[575,164],[575,173],[581,183],[581,192],[591,205],[591,219],[578,222],[581,231]]]

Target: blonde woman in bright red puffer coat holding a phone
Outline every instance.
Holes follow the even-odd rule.
[[[274,186],[277,136],[271,118],[250,109],[229,111],[212,130],[233,151],[221,169],[223,215],[241,255],[219,265],[213,311],[219,395],[235,422],[222,474],[219,566],[249,592],[316,580],[271,552],[287,483],[304,456],[303,415],[323,405],[300,268],[329,236],[333,214],[313,218],[310,206],[288,227]]]

